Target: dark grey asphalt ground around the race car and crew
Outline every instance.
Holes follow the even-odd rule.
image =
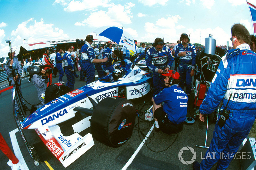
[[[57,83],[58,78],[59,74],[57,75],[57,78],[52,79],[52,82]],[[63,81],[67,82],[66,76],[63,77]],[[86,82],[79,81],[79,78],[77,78],[75,79],[75,88],[79,88],[85,85],[85,83]],[[0,85],[0,90],[6,87],[9,87],[7,83]],[[29,103],[36,104],[39,102],[36,89],[32,82],[28,82],[28,77],[22,79],[21,89],[23,97]],[[152,94],[149,94],[142,99],[134,100],[133,102],[136,104],[136,109],[145,111],[149,106],[151,106],[151,95]],[[146,104],[143,107],[144,101]],[[0,105],[0,132],[13,151],[13,142],[11,141],[9,132],[16,129],[17,126],[12,114],[11,90],[2,92],[0,95]],[[28,107],[30,108],[31,106],[28,105]],[[188,115],[189,114],[190,113],[188,113]],[[131,164],[127,167],[127,169],[192,169],[192,164],[185,165],[181,163],[178,155],[181,148],[189,146],[195,150],[196,161],[201,162],[201,157],[204,156],[207,149],[196,147],[196,145],[204,146],[205,144],[206,122],[207,121],[200,122],[199,120],[196,120],[196,122],[192,125],[185,124],[183,130],[178,134],[178,136],[177,134],[174,136],[169,136],[161,131],[156,133],[153,129],[146,141],[146,144],[141,147],[138,154],[131,161],[130,158],[140,146],[141,141],[144,139],[146,134],[148,134],[150,128],[153,126],[153,122],[144,120],[144,113],[139,113],[139,119],[136,117],[136,127],[133,129],[132,137],[123,146],[112,148],[94,140],[94,146],[92,146],[91,149],[85,152],[80,158],[69,165],[66,169],[122,169],[124,166],[128,166],[126,163],[129,160],[131,161]],[[210,115],[206,146],[210,145],[214,126],[215,124],[212,122],[212,115]],[[140,131],[138,131],[138,127],[140,128]],[[85,131],[85,134],[89,133],[90,128],[86,129]],[[24,133],[30,144],[40,142],[40,139],[35,130],[24,130]],[[141,134],[144,134],[144,136]],[[28,166],[28,169],[49,169],[45,162],[40,162],[39,166],[35,166],[34,160],[30,157],[20,136],[20,133],[16,132],[15,136],[17,138],[21,154],[26,162],[26,165]],[[190,161],[193,157],[193,154],[191,151],[186,150],[182,153],[181,157],[185,161]],[[7,161],[8,158],[4,155],[3,152],[0,152],[1,169],[11,169],[7,165]],[[52,169],[65,169],[65,167],[62,166],[62,164],[55,157],[48,159],[47,162],[52,167]],[[215,168],[216,164],[212,169]],[[233,159],[228,169],[240,169],[240,160]]]

